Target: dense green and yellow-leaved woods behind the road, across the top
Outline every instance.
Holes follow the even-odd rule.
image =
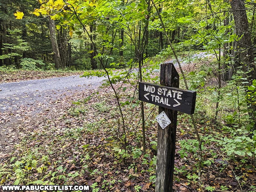
[[[158,54],[168,46],[165,33],[179,52],[220,48],[221,68],[229,73],[253,62],[253,2],[156,1],[155,6],[151,1],[2,1],[0,65],[20,68],[21,60],[32,58],[55,68],[102,68],[99,54],[123,62]]]

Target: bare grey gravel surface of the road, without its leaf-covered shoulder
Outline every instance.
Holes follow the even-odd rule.
[[[61,98],[72,90],[93,89],[104,77],[68,76],[0,84],[0,112],[18,109],[21,105],[45,103],[47,98]]]

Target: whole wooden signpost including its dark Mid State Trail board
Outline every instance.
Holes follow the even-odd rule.
[[[172,192],[177,111],[193,114],[196,92],[178,88],[179,74],[172,63],[161,65],[160,84],[140,82],[139,100],[158,105],[158,114],[164,111],[171,121],[165,128],[158,124],[156,192]]]

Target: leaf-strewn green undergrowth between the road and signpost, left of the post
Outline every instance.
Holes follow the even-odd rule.
[[[142,154],[141,144],[134,141],[140,142],[141,130],[132,122],[124,147],[112,93],[106,92],[73,102],[60,118],[25,136],[13,157],[1,164],[1,184],[88,184],[93,191],[112,191],[122,185],[139,190],[140,177],[154,181],[156,156],[150,144]]]

